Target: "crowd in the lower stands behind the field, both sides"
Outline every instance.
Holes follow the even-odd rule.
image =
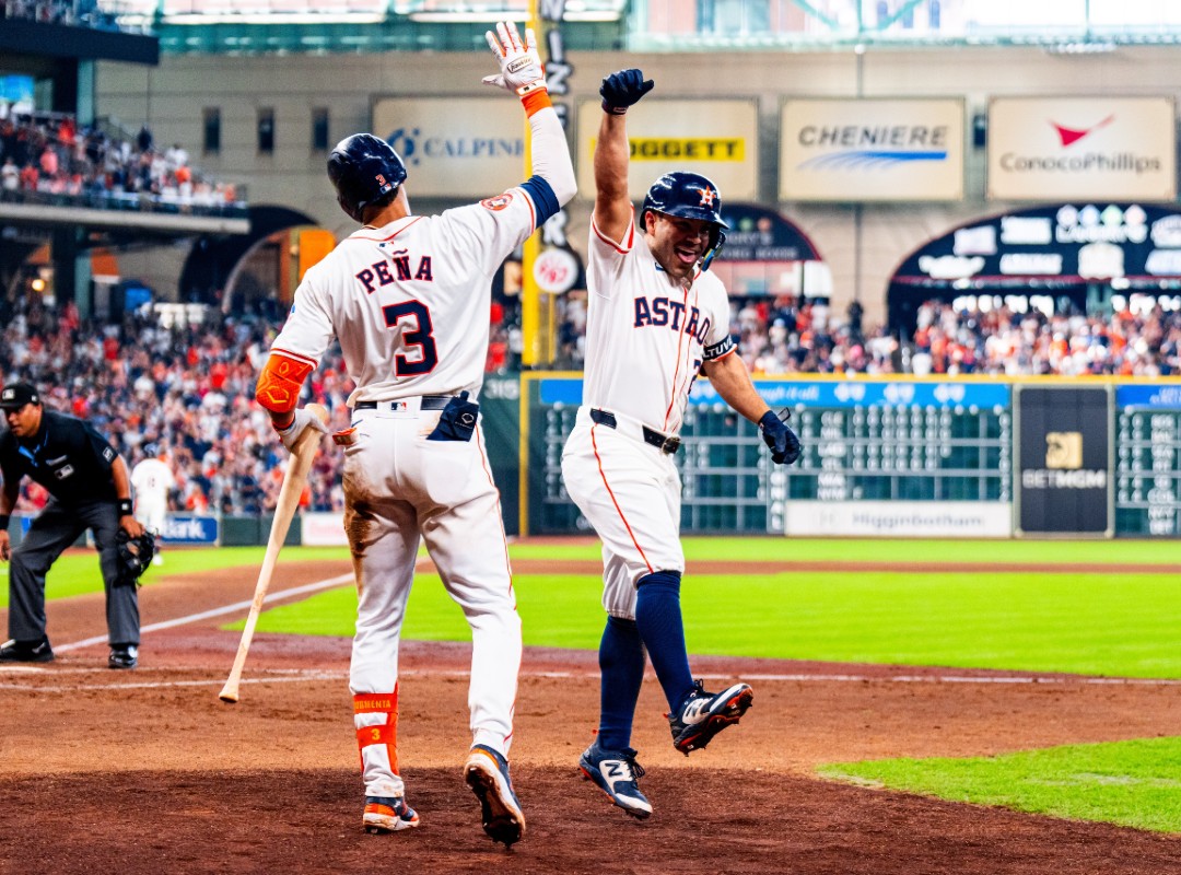
[[[83,324],[74,305],[60,311],[35,295],[0,313],[0,379],[38,385],[51,407],[93,423],[130,465],[163,451],[177,489],[172,510],[257,514],[274,508],[286,451],[269,417],[254,403],[254,383],[281,327],[255,315],[213,312],[202,325],[163,327],[148,308],[122,325]],[[489,373],[518,363],[515,312],[494,307]],[[735,301],[731,333],[756,376],[833,374],[1123,374],[1181,372],[1181,312],[1160,305],[1109,318],[1078,313],[981,311],[928,301],[913,335],[900,342],[883,328],[863,331],[861,311],[843,316],[795,299]],[[579,298],[567,302],[560,367],[579,367]],[[352,383],[339,348],[313,374],[302,403],[332,411],[333,430],[348,426]],[[340,510],[339,453],[321,453],[305,507]],[[27,485],[18,510],[44,505]]]

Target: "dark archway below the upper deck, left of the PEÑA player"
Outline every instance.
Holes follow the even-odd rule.
[[[249,234],[202,235],[181,270],[182,301],[207,303],[224,312],[282,312],[280,286],[291,247],[287,231],[315,226],[287,207],[252,205]]]

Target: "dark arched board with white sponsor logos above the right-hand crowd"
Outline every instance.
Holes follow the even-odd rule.
[[[899,266],[890,331],[909,337],[919,307],[1006,306],[1046,314],[1181,308],[1181,213],[1137,203],[1052,204],[967,222]]]

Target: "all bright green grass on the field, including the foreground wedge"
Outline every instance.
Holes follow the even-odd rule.
[[[736,564],[727,575],[689,575],[683,602],[693,653],[1181,678],[1175,640],[1181,585],[1172,575],[1103,570],[1181,563],[1181,542],[686,538],[685,553],[691,562],[981,562],[996,568],[970,574],[788,568],[744,575]],[[523,542],[510,554],[598,561],[600,549],[587,541]],[[262,556],[261,547],[169,550],[167,564],[152,568],[145,582],[150,587],[164,575],[216,568],[254,572]],[[351,568],[344,548],[286,548],[280,569],[302,560],[339,561],[341,574]],[[1027,563],[1044,568],[1012,568]],[[1056,563],[1089,570],[1064,573],[1052,568]],[[598,647],[603,614],[596,574],[517,574],[515,587],[526,644]],[[2,605],[6,589],[0,587]],[[97,556],[71,553],[51,572],[47,595],[100,589]],[[355,592],[346,585],[265,612],[259,629],[350,636],[355,610]],[[416,581],[404,636],[468,640],[463,615],[437,575]],[[948,799],[1181,832],[1181,739],[835,764],[822,771]]]

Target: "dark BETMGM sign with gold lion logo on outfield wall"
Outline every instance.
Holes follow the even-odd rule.
[[[1017,386],[1018,536],[1111,537],[1111,392]]]

